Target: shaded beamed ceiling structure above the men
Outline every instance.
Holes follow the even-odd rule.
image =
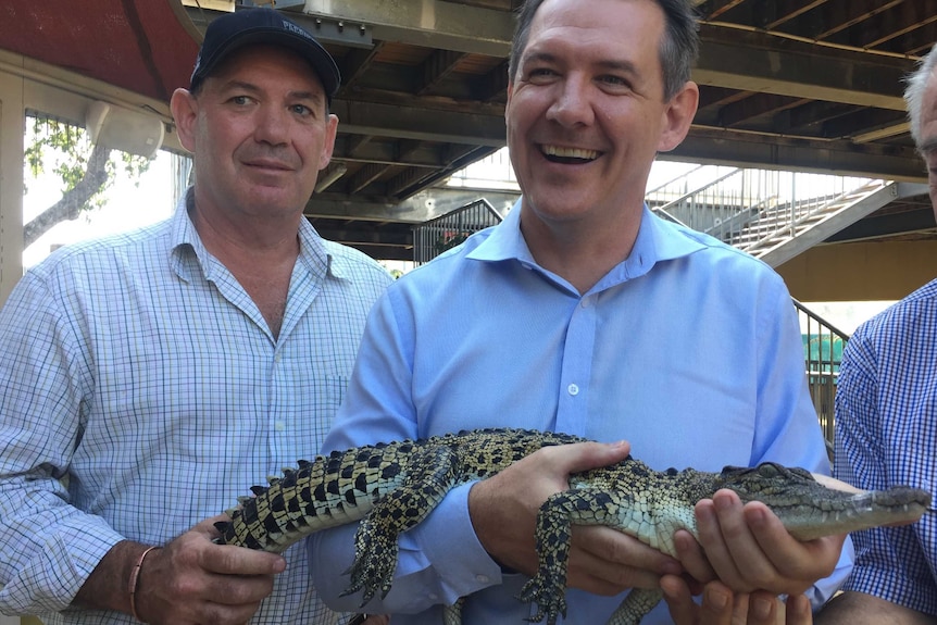
[[[474,199],[436,187],[504,146],[520,0],[7,0],[0,48],[166,100],[188,84],[208,23],[235,3],[284,11],[341,68],[335,157],[310,218],[372,255],[411,258],[414,223]],[[901,92],[937,40],[937,0],[694,3],[700,110],[662,159],[926,179]],[[926,197],[872,217],[863,237],[934,236]]]

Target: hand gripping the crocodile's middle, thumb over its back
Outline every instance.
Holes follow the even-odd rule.
[[[571,473],[613,464],[628,451],[624,442],[546,447],[474,485],[469,512],[482,546],[501,565],[533,576],[538,565],[534,528],[540,505],[570,488]],[[627,588],[658,588],[662,574],[682,572],[675,559],[615,529],[573,527],[570,587],[609,596]]]

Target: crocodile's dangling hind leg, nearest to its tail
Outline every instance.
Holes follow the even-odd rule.
[[[354,562],[342,596],[363,590],[364,605],[380,590],[390,591],[397,568],[398,538],[422,523],[459,479],[458,458],[447,446],[414,451],[402,484],[374,503],[354,535]]]

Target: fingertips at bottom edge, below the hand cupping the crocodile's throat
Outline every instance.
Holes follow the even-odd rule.
[[[710,582],[703,588],[702,604],[697,604],[686,580],[676,575],[661,578],[661,590],[675,625],[778,625],[780,600],[762,590],[733,593],[721,582]],[[784,604],[785,625],[812,625],[810,600],[791,595]]]

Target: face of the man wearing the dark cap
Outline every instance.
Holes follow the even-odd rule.
[[[178,90],[179,140],[196,155],[199,211],[264,220],[302,215],[328,164],[338,123],[313,70],[293,52],[234,52],[199,95]]]

